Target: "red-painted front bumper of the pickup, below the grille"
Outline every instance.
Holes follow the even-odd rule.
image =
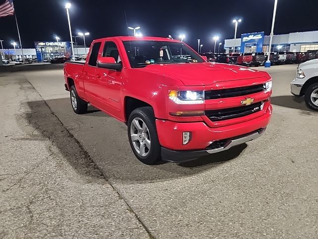
[[[179,161],[174,160],[169,153],[166,153],[166,151],[172,151],[180,153],[180,157],[176,156],[176,158],[185,158],[185,160],[194,159],[206,155],[206,152],[195,152],[195,155],[192,155],[192,151],[210,150],[211,148],[209,147],[221,140],[223,140],[221,146],[225,146],[223,149],[218,150],[226,150],[229,148],[225,142],[228,139],[232,140],[239,135],[245,135],[246,133],[266,128],[271,114],[272,106],[269,104],[264,114],[257,118],[219,127],[210,127],[204,121],[176,122],[156,119],[159,143],[162,146],[162,158],[167,161]],[[183,132],[191,132],[191,140],[185,145],[182,144]],[[230,146],[232,147],[233,143]],[[216,151],[214,150],[213,152]]]

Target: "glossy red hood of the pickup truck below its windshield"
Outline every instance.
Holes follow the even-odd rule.
[[[180,80],[185,86],[211,85],[216,82],[266,77],[267,72],[221,63],[153,64],[135,70]]]

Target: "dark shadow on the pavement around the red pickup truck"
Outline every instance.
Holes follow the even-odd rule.
[[[90,107],[94,113],[76,115],[66,98],[27,102],[27,106],[30,125],[49,138],[80,174],[99,177],[101,172],[108,180],[128,184],[171,180],[211,170],[238,157],[247,146],[242,144],[190,162],[150,166],[139,162],[132,153],[126,125],[94,108]],[[101,117],[89,117],[96,114]]]

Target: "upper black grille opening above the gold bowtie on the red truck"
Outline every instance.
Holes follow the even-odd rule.
[[[212,90],[205,91],[205,99],[213,100],[213,99],[222,99],[236,96],[246,96],[249,94],[254,94],[258,92],[262,92],[264,90],[264,85],[254,85],[254,86],[244,86],[237,88],[229,88],[229,89],[221,89],[221,90]]]

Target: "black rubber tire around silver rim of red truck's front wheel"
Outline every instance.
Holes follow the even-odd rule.
[[[133,144],[133,140],[131,137],[131,127],[133,124],[134,119],[142,119],[148,128],[149,131],[149,138],[150,138],[150,149],[148,150],[148,154],[146,156],[142,156],[136,149]],[[155,115],[154,110],[151,107],[141,107],[134,110],[128,119],[127,122],[127,131],[128,131],[128,139],[130,146],[135,154],[135,156],[143,163],[148,165],[154,165],[156,162],[158,162],[161,159],[161,146],[158,139],[157,134],[157,128],[156,128],[156,122],[155,122]],[[142,125],[141,125],[142,126]],[[136,127],[134,129],[137,129]],[[137,130],[138,131],[138,130]],[[138,132],[137,132],[138,133]],[[135,140],[135,143],[141,144],[141,142],[138,142],[138,140]]]

